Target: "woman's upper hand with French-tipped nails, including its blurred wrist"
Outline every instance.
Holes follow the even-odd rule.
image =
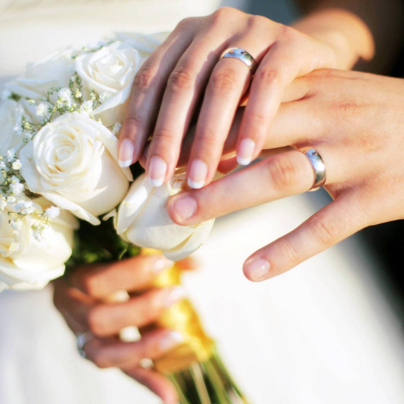
[[[242,48],[259,63],[238,130],[240,164],[249,164],[259,155],[284,88],[292,80],[324,67],[347,68],[359,56],[372,55],[366,26],[350,13],[323,11],[296,26],[299,31],[234,8],[181,21],[135,77],[120,135],[121,163],[127,166],[138,160],[154,130],[146,172],[154,186],[168,181],[203,97],[187,179],[193,188],[210,183],[251,81],[244,63],[232,58],[219,61],[226,48]]]

